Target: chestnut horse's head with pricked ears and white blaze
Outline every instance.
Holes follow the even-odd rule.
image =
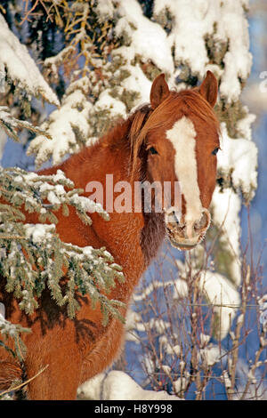
[[[163,74],[151,87],[151,113],[142,130],[147,178],[159,181],[163,189],[166,184],[172,186],[164,207],[166,231],[171,244],[182,250],[198,245],[211,220],[208,207],[220,149],[219,122],[213,109],[216,98],[217,81],[210,71],[191,90],[170,91]],[[177,182],[178,203],[174,198]]]

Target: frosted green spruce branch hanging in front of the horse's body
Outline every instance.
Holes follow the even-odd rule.
[[[109,314],[123,320],[117,309],[123,305],[103,294],[109,293],[116,280],[124,279],[120,266],[104,247],[66,244],[55,231],[56,211],[61,208],[68,216],[69,206],[88,225],[92,223],[88,211],[109,220],[101,205],[80,196],[82,191],[74,189],[61,170],[53,175],[38,175],[19,168],[0,168],[0,270],[6,277],[5,290],[13,292],[20,309],[27,314],[38,307],[37,299],[48,288],[53,300],[59,306],[65,305],[69,318],[74,318],[79,309],[79,292],[90,296],[93,307],[97,302],[101,304],[106,325]],[[23,223],[22,205],[28,213],[38,213],[40,223]],[[67,283],[63,287],[61,279],[65,274]]]

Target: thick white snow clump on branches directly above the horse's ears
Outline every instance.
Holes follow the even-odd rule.
[[[252,65],[243,5],[242,0],[195,0],[193,7],[190,0],[155,0],[154,3],[154,15],[160,16],[166,9],[171,13],[172,30],[167,42],[170,48],[174,47],[175,61],[188,64],[192,74],[203,77],[208,69],[206,35],[214,36],[218,44],[228,42],[220,85],[227,101],[239,99],[239,78],[246,79]]]

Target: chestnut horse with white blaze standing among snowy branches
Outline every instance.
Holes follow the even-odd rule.
[[[182,92],[170,91],[165,76],[158,76],[150,91],[150,104],[134,111],[109,133],[89,148],[69,157],[61,165],[41,171],[53,174],[61,169],[77,188],[86,189],[88,181],[99,181],[104,196],[106,174],[113,181],[165,181],[181,184],[181,207],[170,207],[159,213],[110,212],[110,220],[91,213],[88,227],[69,210],[69,218],[58,215],[56,225],[61,240],[73,245],[105,246],[122,266],[125,282],[117,284],[109,298],[130,301],[142,273],[156,256],[166,235],[172,245],[189,250],[203,239],[209,227],[208,206],[216,181],[216,153],[219,149],[219,123],[214,116],[217,82],[210,71],[199,87]],[[174,188],[172,188],[174,190]],[[85,195],[86,196],[86,195]],[[105,205],[107,202],[103,202]],[[26,213],[26,222],[33,222]],[[36,221],[37,222],[37,221]],[[3,279],[2,279],[3,281]],[[75,319],[68,318],[43,293],[39,308],[31,316],[23,314],[10,293],[0,293],[6,318],[32,332],[23,334],[27,353],[24,368],[29,399],[75,399],[77,387],[107,368],[119,354],[124,340],[124,326],[117,318],[102,325],[100,306],[92,308],[90,298],[79,295],[80,309]],[[125,315],[125,311],[123,311]],[[21,368],[10,354],[0,348],[1,389],[13,378],[21,377]],[[4,382],[6,384],[4,384]]]

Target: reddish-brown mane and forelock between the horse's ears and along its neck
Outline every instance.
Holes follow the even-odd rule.
[[[132,179],[138,165],[140,150],[145,144],[150,131],[169,124],[171,119],[177,119],[179,113],[185,117],[198,119],[206,124],[211,130],[220,133],[220,125],[215,116],[214,109],[199,94],[198,88],[183,90],[182,92],[171,91],[166,100],[156,109],[151,109],[150,104],[143,104],[127,118],[118,118],[113,128],[105,133],[100,141],[90,147],[86,147],[77,154],[80,162],[85,161],[93,153],[93,149],[109,147],[115,151],[130,149],[130,170]]]

